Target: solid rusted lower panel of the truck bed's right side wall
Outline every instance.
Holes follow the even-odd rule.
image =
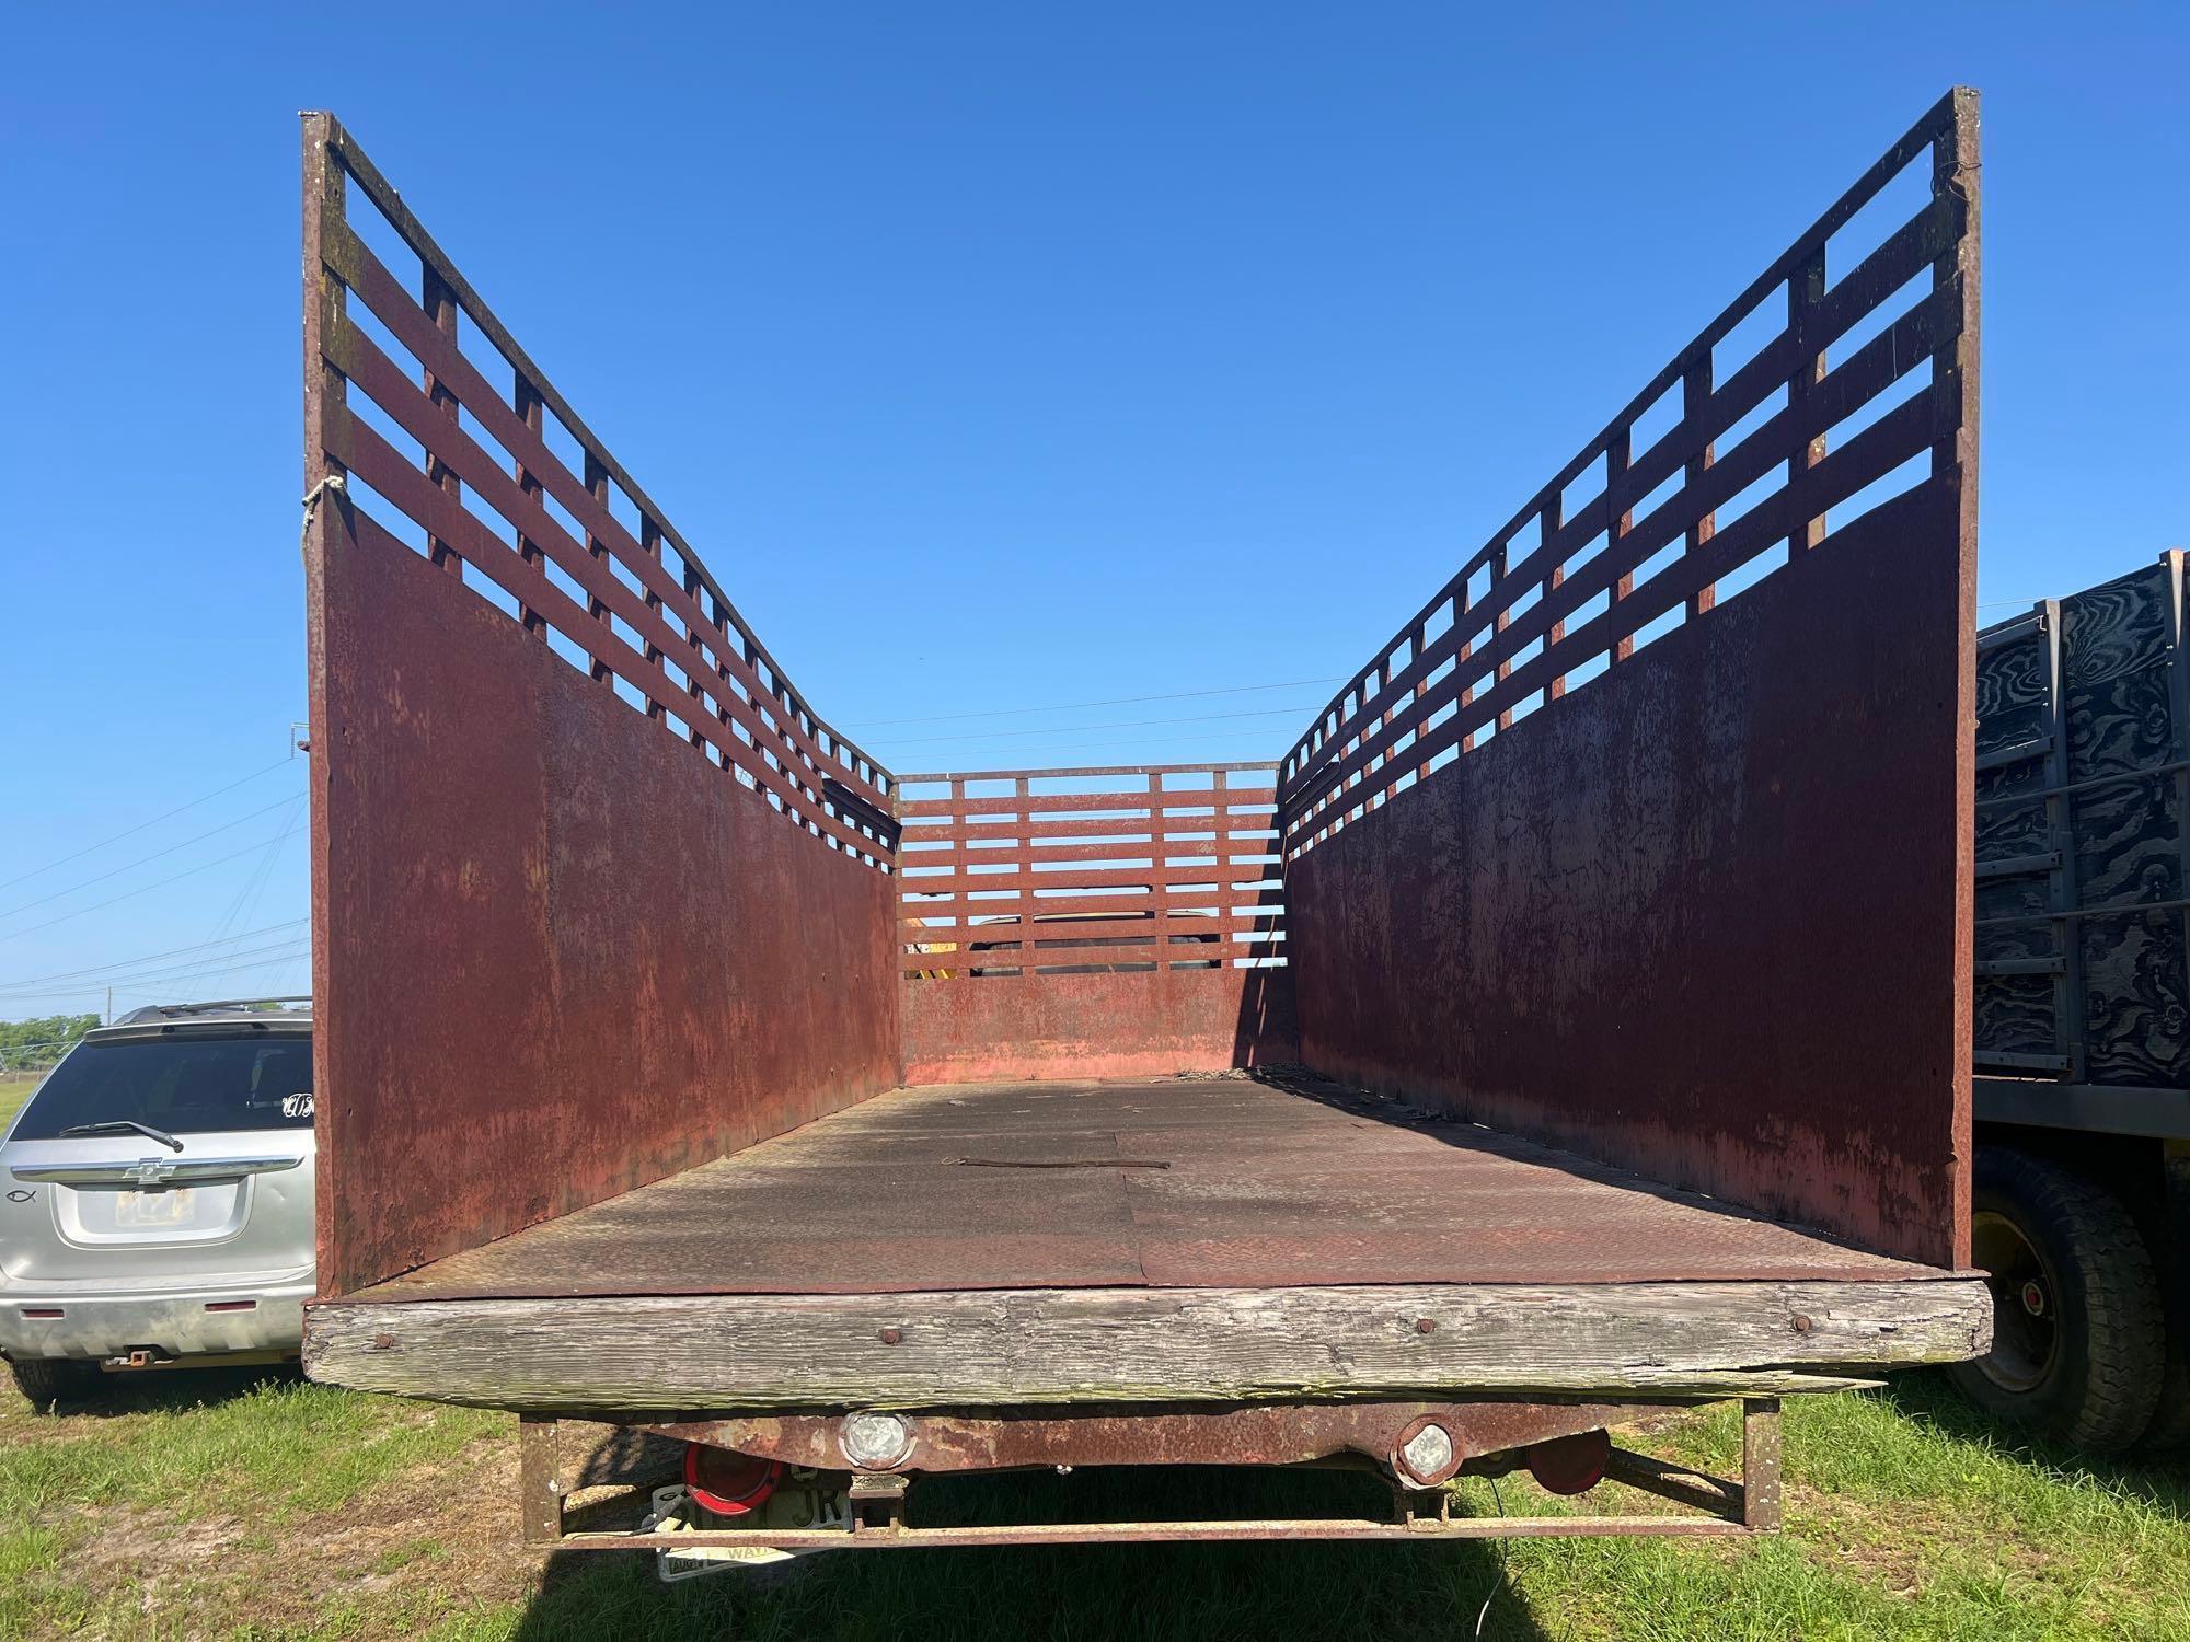
[[[1301,1057],[1964,1265],[1960,582],[1921,486],[1288,863]]]

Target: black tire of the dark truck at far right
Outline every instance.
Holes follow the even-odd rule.
[[[1978,1408],[2094,1454],[2159,1408],[2166,1327],[2153,1257],[2120,1198],[2013,1147],[1978,1147],[1971,1259],[1993,1349],[1949,1373]]]

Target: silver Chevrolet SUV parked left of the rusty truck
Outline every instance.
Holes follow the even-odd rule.
[[[136,1009],[0,1141],[0,1355],[99,1373],[296,1357],[313,1292],[311,1009]]]

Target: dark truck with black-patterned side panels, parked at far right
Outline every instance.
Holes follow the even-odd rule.
[[[2183,554],[1978,635],[1969,1395],[2080,1447],[2190,1441]]]

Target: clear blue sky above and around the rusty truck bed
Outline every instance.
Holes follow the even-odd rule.
[[[1266,758],[1956,81],[1984,615],[2186,545],[2186,18],[15,9],[0,1018],[304,979],[296,109],[885,762]]]

